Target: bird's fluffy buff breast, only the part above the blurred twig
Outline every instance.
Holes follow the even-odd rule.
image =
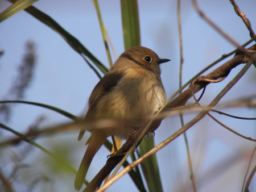
[[[137,119],[154,114],[164,102],[166,93],[160,77],[146,69],[131,68],[109,94],[101,98],[97,111],[112,118]]]

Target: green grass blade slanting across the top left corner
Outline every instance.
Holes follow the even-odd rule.
[[[13,16],[17,12],[26,9],[27,7],[31,6],[36,1],[38,1],[38,0],[18,0],[18,1],[16,1],[13,5],[8,7],[5,11],[1,12],[0,22],[9,18],[10,16]]]

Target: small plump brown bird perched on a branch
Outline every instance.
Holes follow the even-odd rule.
[[[126,123],[104,129],[88,128],[91,136],[75,178],[75,189],[80,190],[94,155],[109,136],[127,139],[147,123],[137,121],[154,115],[166,102],[166,91],[160,77],[159,65],[170,61],[146,47],[131,47],[114,62],[109,72],[94,87],[89,97],[85,120],[122,119]],[[130,123],[127,123],[129,122]],[[81,140],[85,130],[81,130]]]

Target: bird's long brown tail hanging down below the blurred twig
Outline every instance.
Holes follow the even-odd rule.
[[[98,149],[104,144],[106,140],[106,135],[102,131],[92,131],[92,136],[90,136],[89,145],[86,149],[84,157],[82,158],[79,170],[76,174],[75,179],[75,189],[80,190],[82,184],[84,183],[86,173],[89,169],[90,163],[93,160],[94,155],[98,152]]]

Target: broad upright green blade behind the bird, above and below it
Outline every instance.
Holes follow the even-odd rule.
[[[121,0],[121,10],[125,49],[141,45],[137,0]],[[141,155],[144,155],[150,151],[150,149],[154,148],[154,146],[154,139],[150,137],[141,142],[139,151],[141,152]],[[147,158],[141,165],[148,190],[152,192],[163,191],[156,155]],[[133,178],[133,180],[136,179],[137,178]]]

